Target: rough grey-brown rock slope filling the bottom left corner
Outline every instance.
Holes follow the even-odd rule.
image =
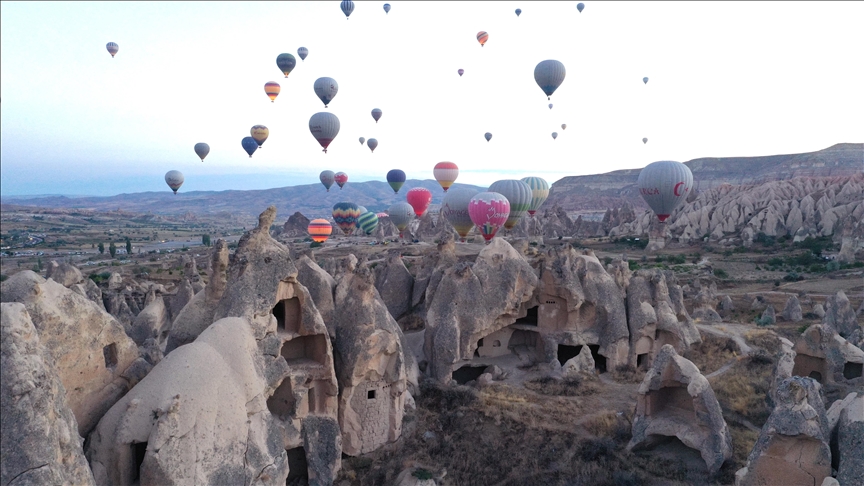
[[[0,484],[93,484],[54,359],[23,304],[0,304],[0,336]]]

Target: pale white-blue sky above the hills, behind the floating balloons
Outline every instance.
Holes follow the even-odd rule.
[[[864,2],[389,3],[355,2],[346,20],[337,0],[4,1],[0,191],[168,191],[172,169],[183,192],[311,184],[325,169],[432,179],[440,161],[457,182],[551,184],[864,141]],[[283,52],[297,57],[288,79]],[[533,77],[545,59],[567,69],[551,110]],[[327,109],[322,76],[339,83]],[[267,81],[282,85],[275,103]],[[319,111],[341,121],[327,154],[308,128]],[[270,138],[250,159],[240,140],[256,124]]]

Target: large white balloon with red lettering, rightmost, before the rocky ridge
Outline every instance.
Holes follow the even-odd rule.
[[[666,221],[672,210],[687,199],[693,187],[693,173],[680,162],[652,162],[639,172],[636,187],[657,219]]]

